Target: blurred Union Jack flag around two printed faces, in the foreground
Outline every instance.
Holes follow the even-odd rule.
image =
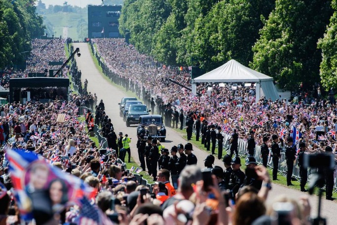
[[[76,178],[68,173],[63,173],[57,167],[48,164],[43,158],[32,152],[24,152],[20,150],[8,149],[6,158],[9,162],[10,179],[14,187],[14,197],[20,210],[20,215],[23,220],[31,221],[33,217],[31,204],[31,196],[28,192],[28,187],[34,184],[26,179],[27,175],[32,173],[32,168],[36,165],[45,168],[48,171],[48,179],[45,181],[43,188],[47,190],[49,183],[54,179],[63,180],[68,187],[68,198],[70,202],[77,201],[83,196],[93,198],[96,195],[96,190],[84,184],[83,180]],[[41,182],[41,180],[40,180]]]

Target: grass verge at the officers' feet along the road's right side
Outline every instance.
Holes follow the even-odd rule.
[[[175,132],[177,132],[180,135],[182,135],[185,139],[187,139],[186,130],[180,130],[180,129],[175,129],[175,128],[172,128],[172,129]],[[201,139],[199,139],[199,141],[195,140],[195,134],[194,133],[192,134],[192,138],[191,138],[191,140],[189,140],[189,142],[192,143],[193,145],[197,146],[201,150],[209,153],[209,154],[212,153],[212,151],[207,151],[206,148],[204,147],[204,145],[201,144]],[[212,144],[211,144],[211,149],[212,149]],[[223,156],[225,154],[226,154],[226,152],[223,152]],[[218,157],[218,147],[216,147],[216,149],[215,149],[215,155],[214,156],[215,156],[215,158]],[[241,159],[241,165],[242,165],[241,169],[243,171],[245,171],[245,169],[246,169],[246,166],[245,166],[245,157],[241,156],[240,159]],[[272,178],[272,168],[268,168],[268,173],[269,173],[270,178]],[[282,186],[286,186],[286,187],[291,188],[291,189],[300,190],[300,180],[292,181],[292,183],[294,184],[293,186],[287,186],[287,178],[285,176],[282,176],[282,175],[278,174],[277,179],[278,180],[272,180],[272,182],[276,183],[276,184],[279,184],[279,185],[282,185]],[[306,189],[308,188],[308,183],[306,184],[305,188]],[[318,192],[316,194],[318,194]],[[337,193],[333,193],[333,197],[337,199]],[[335,200],[335,201],[337,201],[337,200]]]

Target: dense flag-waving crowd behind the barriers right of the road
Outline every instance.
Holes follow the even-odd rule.
[[[227,134],[236,129],[244,140],[250,136],[247,133],[254,130],[259,145],[263,143],[263,134],[279,134],[282,128],[290,134],[292,126],[306,140],[317,141],[316,131],[324,131],[320,138],[324,143],[334,140],[329,135],[329,131],[337,131],[333,89],[328,93],[328,98],[323,98],[318,84],[313,87],[300,85],[298,91],[292,92],[291,99],[272,101],[262,96],[256,103],[253,86],[232,89],[231,84],[201,83],[197,87],[200,96],[194,96],[185,88],[167,82],[167,78],[170,78],[190,86],[188,68],[155,62],[139,53],[134,46],[126,44],[123,39],[94,39],[92,42],[96,43],[98,53],[110,69],[113,80],[134,90],[139,96],[142,94],[149,106],[153,97],[158,114],[163,114],[167,105],[173,106],[179,111],[183,110],[185,116],[193,116],[194,120],[194,115],[202,116],[208,125],[219,125]],[[167,116],[172,118],[172,115]]]

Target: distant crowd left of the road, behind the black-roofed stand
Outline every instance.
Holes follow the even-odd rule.
[[[1,71],[1,86],[4,89],[9,88],[10,78],[24,78],[28,77],[29,73],[45,73],[45,76],[49,76],[49,72],[45,70],[59,69],[61,65],[66,61],[65,44],[66,40],[53,38],[53,39],[33,39],[32,51],[22,52],[27,55],[26,69],[14,70],[5,69]],[[61,65],[48,65],[49,62],[62,62]],[[67,76],[68,68],[64,68],[63,76]]]

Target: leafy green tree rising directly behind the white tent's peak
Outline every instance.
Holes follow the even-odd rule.
[[[230,59],[248,66],[252,46],[259,37],[262,18],[274,7],[272,1],[228,0],[214,5],[194,26],[194,58],[205,70]]]

